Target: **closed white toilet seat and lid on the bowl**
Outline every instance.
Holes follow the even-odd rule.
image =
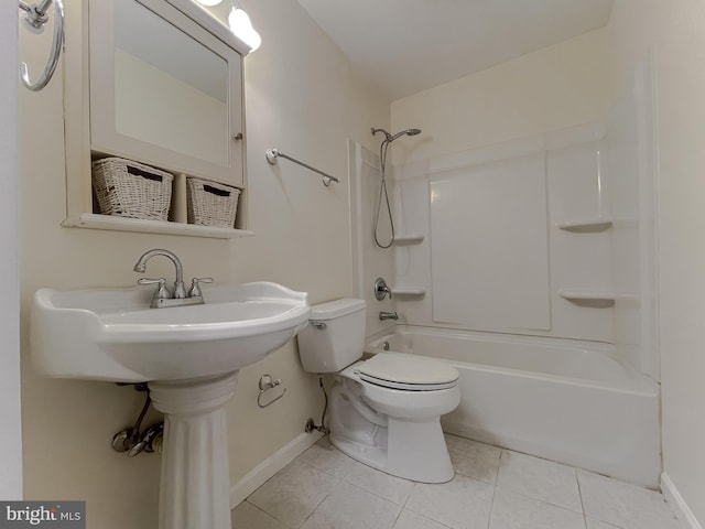
[[[458,370],[443,361],[403,353],[380,353],[355,365],[360,380],[390,389],[435,391],[456,386]]]

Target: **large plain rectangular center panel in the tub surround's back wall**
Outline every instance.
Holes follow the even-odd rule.
[[[430,177],[434,322],[551,330],[545,174],[540,152]]]

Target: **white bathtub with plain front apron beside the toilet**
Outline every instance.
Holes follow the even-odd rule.
[[[659,387],[607,344],[397,325],[366,353],[456,367],[459,406],[444,431],[647,487],[661,473]]]

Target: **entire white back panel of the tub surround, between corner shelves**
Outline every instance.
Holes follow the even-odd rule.
[[[605,133],[586,125],[394,168],[394,222],[423,240],[394,248],[386,279],[430,294],[397,300],[405,321],[614,341],[614,309],[558,293],[614,291],[611,229],[557,226],[610,216]]]

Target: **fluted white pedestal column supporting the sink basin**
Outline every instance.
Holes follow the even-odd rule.
[[[165,414],[160,529],[230,529],[225,404],[237,376],[149,384],[154,408]]]

